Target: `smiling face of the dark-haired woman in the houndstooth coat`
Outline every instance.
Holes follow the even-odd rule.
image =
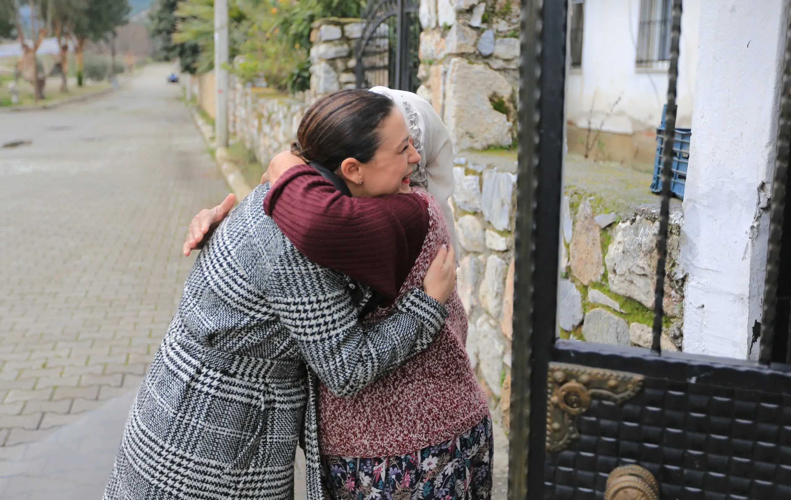
[[[412,165],[420,162],[420,154],[412,145],[403,114],[392,107],[378,127],[380,145],[367,163],[354,158],[343,160],[340,174],[352,196],[380,196],[409,193]],[[362,183],[360,183],[362,181]]]

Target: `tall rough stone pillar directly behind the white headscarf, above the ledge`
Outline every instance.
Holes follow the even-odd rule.
[[[456,151],[512,145],[519,81],[519,2],[422,0],[418,94]]]

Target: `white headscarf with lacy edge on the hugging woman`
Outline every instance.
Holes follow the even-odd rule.
[[[448,198],[456,186],[453,181],[453,144],[448,127],[433,106],[413,92],[387,87],[373,87],[370,91],[389,96],[407,120],[412,143],[420,153],[420,163],[413,167],[410,179],[426,187],[439,203],[458,259],[459,239],[456,236],[456,225],[453,224],[453,212],[448,204]]]

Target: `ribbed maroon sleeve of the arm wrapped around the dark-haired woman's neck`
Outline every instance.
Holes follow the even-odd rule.
[[[263,206],[310,260],[368,285],[388,303],[429,230],[428,207],[417,195],[343,196],[307,165],[286,171]]]

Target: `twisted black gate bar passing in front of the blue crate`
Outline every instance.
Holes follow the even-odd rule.
[[[670,218],[670,183],[673,175],[673,146],[676,141],[676,81],[679,79],[679,39],[681,38],[681,0],[673,0],[670,29],[670,70],[668,70],[668,111],[664,118],[664,154],[662,155],[662,205],[659,210],[657,242],[657,288],[653,292],[653,343],[651,349],[662,351],[662,317],[664,316],[664,266],[668,261],[668,219]]]

